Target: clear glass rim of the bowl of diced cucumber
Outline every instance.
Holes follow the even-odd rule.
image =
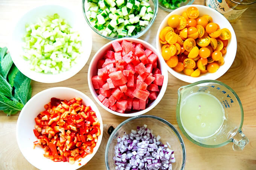
[[[91,27],[91,29],[96,32],[98,35],[102,36],[103,38],[106,38],[106,39],[110,39],[110,40],[115,40],[115,39],[118,39],[118,38],[115,38],[115,37],[109,37],[109,36],[104,36],[102,35],[101,33],[99,33],[99,31],[97,29],[95,29],[93,26],[91,26],[91,23],[90,21],[88,20],[88,18],[86,17],[86,12],[85,12],[85,1],[86,0],[82,0],[82,12],[84,14],[84,18],[85,18],[85,21],[87,22],[87,24]],[[152,2],[154,3],[154,15],[153,17],[151,18],[150,20],[150,23],[148,24],[147,27],[145,27],[144,30],[142,30],[141,32],[137,33],[136,35],[134,36],[125,36],[125,37],[122,37],[122,38],[139,38],[140,36],[144,35],[152,26],[152,24],[154,23],[155,21],[155,18],[157,17],[157,12],[158,12],[158,0],[152,0]]]

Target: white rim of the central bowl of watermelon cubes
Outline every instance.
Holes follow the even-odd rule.
[[[149,107],[147,107],[146,109],[144,110],[141,110],[141,111],[137,111],[137,112],[134,112],[134,113],[119,113],[117,111],[113,111],[111,110],[110,108],[107,108],[104,104],[102,104],[101,101],[99,101],[99,99],[97,98],[97,94],[93,88],[93,85],[91,83],[91,77],[93,75],[91,75],[92,73],[92,63],[93,62],[96,62],[95,59],[97,58],[98,54],[102,51],[102,50],[105,50],[105,48],[107,48],[109,45],[111,45],[112,42],[114,41],[122,41],[122,40],[127,40],[127,41],[131,41],[131,42],[136,42],[136,43],[141,43],[142,45],[144,46],[147,46],[149,47],[150,50],[152,50],[157,56],[158,56],[158,63],[160,63],[161,65],[161,72],[162,72],[162,75],[164,76],[164,80],[163,80],[163,86],[157,96],[157,98],[155,99],[155,101],[153,101]],[[107,44],[105,44],[104,46],[102,46],[93,56],[93,58],[91,59],[91,62],[90,62],[90,65],[89,65],[89,68],[88,68],[88,86],[89,86],[89,89],[90,89],[90,92],[93,96],[93,98],[96,100],[96,102],[101,105],[101,107],[103,107],[105,110],[109,111],[110,113],[113,113],[113,114],[116,114],[118,116],[125,116],[125,117],[132,117],[132,116],[138,116],[138,115],[141,115],[141,114],[144,114],[146,112],[148,112],[149,110],[151,110],[152,108],[154,108],[160,101],[161,99],[163,98],[163,95],[165,94],[165,91],[166,91],[166,88],[167,88],[167,84],[168,84],[168,71],[166,69],[166,67],[163,67],[163,63],[162,63],[162,60],[160,60],[160,54],[157,52],[157,50],[155,50],[155,48],[149,44],[148,42],[146,41],[143,41],[141,39],[137,39],[137,38],[120,38],[120,39],[116,39],[116,40],[113,40],[113,41],[110,41],[108,42]]]

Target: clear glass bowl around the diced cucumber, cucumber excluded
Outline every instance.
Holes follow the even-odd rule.
[[[117,39],[117,38],[118,38],[117,36],[115,36],[115,37],[110,37],[110,36],[104,36],[104,35],[102,35],[102,33],[100,33],[98,29],[96,29],[95,27],[93,27],[93,26],[91,25],[90,20],[88,20],[88,18],[87,18],[86,10],[85,10],[86,7],[87,7],[87,3],[88,3],[87,0],[82,0],[82,10],[83,10],[84,18],[85,18],[86,22],[88,23],[88,25],[91,27],[91,29],[93,29],[94,32],[96,32],[98,35],[102,36],[103,38],[110,39],[110,40]],[[153,17],[151,18],[151,20],[149,21],[148,26],[145,27],[145,29],[143,29],[141,32],[137,33],[136,35],[133,35],[133,36],[123,36],[122,38],[125,38],[125,37],[139,38],[140,36],[144,35],[144,34],[149,30],[149,28],[150,28],[150,27],[152,26],[152,24],[154,23],[155,18],[157,17],[157,12],[158,12],[158,0],[149,0],[149,4],[150,4],[152,10],[154,10],[154,15],[153,15]]]

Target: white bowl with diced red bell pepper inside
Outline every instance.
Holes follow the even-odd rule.
[[[21,153],[38,169],[78,169],[95,155],[103,123],[84,93],[53,87],[33,96],[21,110],[16,128]]]

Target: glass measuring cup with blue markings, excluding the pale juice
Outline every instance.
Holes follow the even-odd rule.
[[[186,125],[183,124],[183,120],[181,119],[181,110],[183,105],[186,104],[187,97],[195,93],[214,96],[213,98],[219,101],[224,114],[220,127],[215,133],[207,137],[199,137],[191,134],[185,128]],[[199,107],[201,106],[199,105]],[[234,90],[220,81],[203,80],[180,87],[178,89],[176,118],[183,134],[199,146],[221,147],[233,142],[233,150],[242,150],[249,143],[248,138],[241,131],[244,121],[244,111],[241,101]]]

